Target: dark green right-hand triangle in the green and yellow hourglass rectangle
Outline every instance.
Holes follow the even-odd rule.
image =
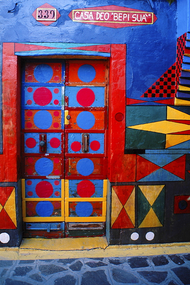
[[[162,189],[156,200],[152,205],[152,209],[156,213],[160,223],[164,225],[164,209],[165,209],[165,188]]]

